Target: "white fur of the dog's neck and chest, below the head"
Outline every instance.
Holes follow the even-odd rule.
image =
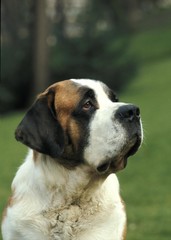
[[[14,203],[4,240],[121,240],[126,216],[115,174],[106,180],[88,166],[76,170],[30,150],[12,183]]]

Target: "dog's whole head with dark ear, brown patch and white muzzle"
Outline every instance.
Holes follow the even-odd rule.
[[[140,111],[117,101],[94,80],[66,80],[40,94],[16,139],[67,168],[87,164],[98,173],[123,169],[142,141]]]

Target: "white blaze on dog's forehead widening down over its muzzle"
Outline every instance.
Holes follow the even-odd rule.
[[[97,168],[106,160],[112,160],[123,149],[126,131],[115,119],[115,112],[124,103],[112,102],[104,91],[104,84],[94,80],[73,80],[94,90],[99,109],[90,122],[88,145],[84,150],[85,160]]]

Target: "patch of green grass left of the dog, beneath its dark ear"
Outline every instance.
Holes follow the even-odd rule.
[[[14,138],[22,114],[0,117],[0,215],[10,196],[11,182],[26,154],[27,148]]]

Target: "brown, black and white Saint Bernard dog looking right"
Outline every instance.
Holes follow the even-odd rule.
[[[29,153],[12,183],[4,240],[123,240],[116,172],[142,143],[140,110],[100,81],[70,79],[38,95],[16,129]]]

